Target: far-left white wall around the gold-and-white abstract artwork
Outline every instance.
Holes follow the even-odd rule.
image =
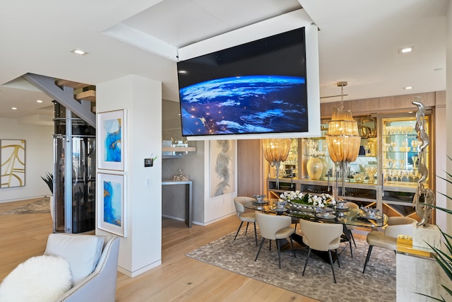
[[[0,203],[49,196],[41,179],[53,171],[53,127],[0,119],[0,139],[25,139],[25,186],[0,188]]]

